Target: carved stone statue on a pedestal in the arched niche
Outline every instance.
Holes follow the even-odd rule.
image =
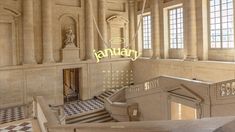
[[[67,47],[76,47],[75,43],[74,43],[74,39],[75,39],[75,35],[73,33],[73,30],[71,27],[69,27],[67,30],[66,30],[66,38],[64,40],[64,47],[67,48]]]

